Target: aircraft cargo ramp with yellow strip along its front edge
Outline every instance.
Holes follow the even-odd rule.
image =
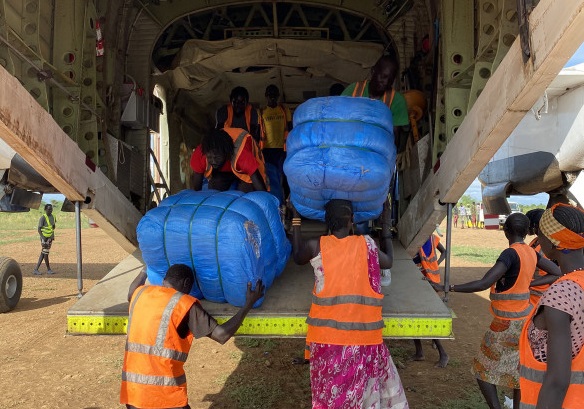
[[[394,242],[392,282],[383,287],[386,338],[451,338],[452,314],[399,242]],[[125,334],[128,287],[142,268],[139,251],[128,256],[67,314],[69,334]],[[288,262],[267,291],[261,307],[252,310],[237,335],[254,337],[304,337],[314,275],[310,264]],[[237,308],[202,300],[205,309],[224,322]]]

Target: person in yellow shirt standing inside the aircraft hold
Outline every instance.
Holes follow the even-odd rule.
[[[266,87],[267,106],[260,110],[262,153],[272,193],[283,206],[288,196],[288,183],[284,174],[286,138],[292,130],[290,109],[279,103],[280,90],[274,84]]]

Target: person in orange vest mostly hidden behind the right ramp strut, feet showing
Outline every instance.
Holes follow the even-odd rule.
[[[440,257],[438,257],[436,251],[440,252]],[[440,284],[440,263],[446,258],[446,248],[440,243],[440,237],[437,234],[432,234],[428,240],[420,247],[418,254],[414,257],[414,263],[418,265],[420,271],[424,275],[424,278],[432,283]],[[438,339],[433,339],[432,342],[438,349],[438,362],[436,363],[437,368],[446,368],[448,365],[448,354],[444,350],[442,343]],[[422,341],[419,339],[414,339],[414,345],[416,347],[416,352],[412,357],[414,361],[423,361],[424,350],[422,348]]]

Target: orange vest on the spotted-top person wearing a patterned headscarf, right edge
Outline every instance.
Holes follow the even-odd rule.
[[[572,280],[584,289],[584,270],[566,274],[560,277],[556,283],[562,280]],[[519,339],[521,409],[535,409],[547,370],[547,363],[540,362],[534,358],[527,338],[528,327],[534,314],[535,309],[525,322]],[[562,404],[564,409],[578,409],[584,405],[584,348],[572,358],[571,371],[570,386]]]

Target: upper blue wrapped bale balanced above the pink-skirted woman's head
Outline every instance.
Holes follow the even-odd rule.
[[[298,212],[324,221],[331,199],[353,202],[355,222],[378,217],[395,169],[391,111],[377,100],[313,98],[294,111],[284,173]]]

